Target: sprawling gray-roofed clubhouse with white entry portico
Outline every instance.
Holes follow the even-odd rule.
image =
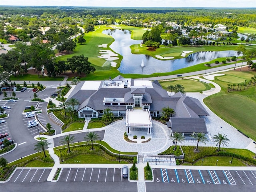
[[[162,108],[175,110],[166,122],[172,132],[184,136],[193,132],[207,133],[205,118],[208,112],[198,99],[181,92],[172,96],[158,81],[134,80],[117,76],[102,81],[84,81],[76,85],[70,96],[76,98],[79,118],[98,118],[110,108],[115,116],[126,117],[126,132],[145,131],[152,134],[152,116],[161,117]]]

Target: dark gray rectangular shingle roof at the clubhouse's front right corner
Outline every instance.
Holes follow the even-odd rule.
[[[207,133],[204,118],[171,118],[172,132]]]

